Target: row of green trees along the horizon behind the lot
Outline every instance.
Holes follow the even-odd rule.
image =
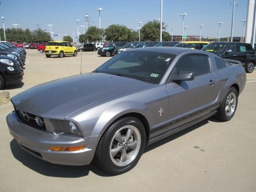
[[[172,36],[170,33],[164,31],[167,26],[163,23],[162,25],[162,41],[170,41]],[[23,42],[49,42],[51,40],[51,35],[46,30],[36,29],[31,31],[30,29],[21,28],[8,28],[5,30],[6,41],[15,41],[18,43]],[[3,28],[0,29],[1,40],[4,40]],[[158,20],[153,20],[147,22],[140,29],[140,39],[141,41],[159,41],[160,39],[160,22]],[[102,42],[102,41],[138,41],[139,34],[138,31],[127,28],[126,26],[113,24],[108,26],[106,29],[99,29],[95,26],[88,28],[85,34],[79,35],[79,42]],[[68,42],[76,42],[71,36],[63,36],[63,40]],[[205,40],[205,39],[202,39]]]

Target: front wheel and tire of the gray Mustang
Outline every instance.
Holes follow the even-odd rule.
[[[125,117],[104,133],[95,152],[95,163],[113,175],[128,172],[138,163],[146,142],[145,128],[138,118]]]

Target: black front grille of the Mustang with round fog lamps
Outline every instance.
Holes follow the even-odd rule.
[[[26,111],[22,111],[17,108],[15,108],[15,111],[16,111],[17,116],[19,117],[19,120],[22,123],[29,125],[30,127],[33,127],[40,131],[46,131],[44,118],[42,118],[40,116],[33,115],[31,113],[27,113]],[[36,119],[38,119],[37,122],[36,122]]]

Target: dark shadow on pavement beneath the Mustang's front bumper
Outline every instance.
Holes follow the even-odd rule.
[[[38,159],[20,148],[19,144],[14,139],[10,142],[10,148],[15,159],[20,161],[20,163],[24,164],[24,166],[28,167],[29,169],[45,176],[77,178],[87,176],[89,172],[93,172],[102,177],[111,176],[110,174],[101,170],[94,163],[84,166],[67,166],[61,164],[52,164],[42,159]]]

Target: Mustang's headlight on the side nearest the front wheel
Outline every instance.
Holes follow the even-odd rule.
[[[76,124],[67,120],[51,120],[53,125],[53,131],[56,134],[82,137],[82,133]]]

